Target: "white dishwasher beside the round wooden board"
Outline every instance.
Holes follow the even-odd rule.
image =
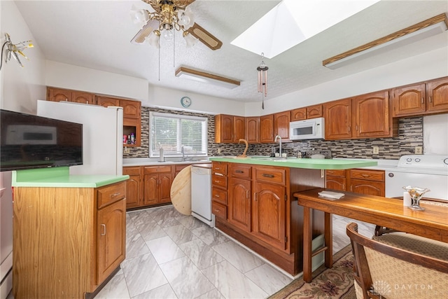
[[[211,165],[191,166],[191,214],[211,228],[215,216],[211,214]]]

